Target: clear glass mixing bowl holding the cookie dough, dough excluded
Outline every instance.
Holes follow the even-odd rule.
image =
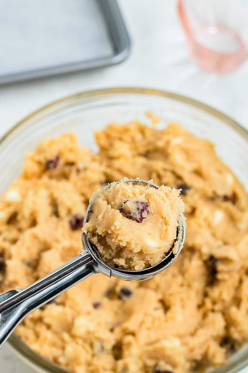
[[[25,154],[42,139],[76,132],[82,145],[96,151],[95,130],[103,129],[110,122],[131,120],[151,125],[145,115],[147,110],[160,118],[158,128],[169,122],[180,122],[196,136],[213,142],[219,156],[248,189],[248,132],[234,120],[174,93],[142,88],[110,88],[63,98],[37,110],[7,132],[0,140],[0,192],[20,174]],[[8,343],[37,372],[66,372],[30,350],[15,334]],[[233,354],[228,364],[213,372],[235,373],[245,366],[248,366],[247,346]],[[245,369],[245,372],[248,370]]]

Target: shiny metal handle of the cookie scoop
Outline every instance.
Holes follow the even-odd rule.
[[[92,257],[84,253],[24,289],[0,294],[0,348],[25,316],[93,273]]]

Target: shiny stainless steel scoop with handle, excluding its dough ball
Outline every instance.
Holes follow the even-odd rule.
[[[153,188],[158,188],[157,185],[141,179],[129,179],[126,182],[149,184]],[[102,190],[109,188],[109,186],[110,184]],[[84,218],[85,222],[87,222],[90,209],[91,204],[88,205]],[[175,241],[179,244],[177,253],[173,253],[172,247],[167,256],[160,263],[155,264],[155,266],[139,271],[128,271],[110,267],[104,263],[96,248],[88,241],[86,234],[83,233],[83,250],[80,255],[28,287],[10,290],[0,295],[0,347],[25,316],[90,275],[103,273],[109,277],[114,276],[118,279],[129,281],[145,280],[157,275],[157,273],[167,268],[178,256],[183,248],[184,238],[185,220],[182,215],[178,221],[177,238]]]

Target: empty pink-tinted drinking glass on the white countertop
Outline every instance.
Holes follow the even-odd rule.
[[[231,72],[248,57],[248,0],[178,0],[191,56],[202,68]]]

